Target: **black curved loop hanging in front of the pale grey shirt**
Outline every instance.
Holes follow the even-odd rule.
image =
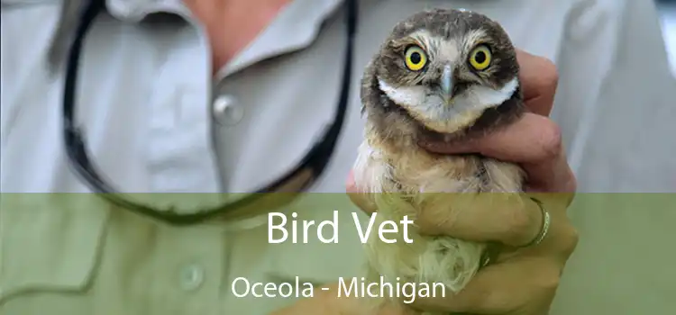
[[[75,39],[70,46],[63,94],[63,137],[70,166],[75,168],[78,175],[87,182],[94,193],[99,193],[108,202],[171,225],[191,225],[215,219],[232,220],[247,218],[260,213],[267,213],[291,202],[297,193],[314,184],[315,180],[322,175],[333,156],[333,150],[343,128],[352,77],[354,33],[357,28],[356,0],[345,0],[344,7],[346,11],[347,42],[345,45],[341,94],[333,122],[324,132],[324,137],[315,143],[315,146],[309,150],[301,162],[289,171],[287,175],[283,175],[271,184],[248,194],[236,202],[225,203],[196,213],[181,214],[175,209],[158,210],[138,202],[129,201],[121,195],[122,193],[118,193],[113,186],[105,181],[87,155],[82,131],[73,118],[77,90],[78,61],[80,52],[82,51],[82,41],[87,34],[89,26],[96,19],[96,15],[105,8],[105,0],[90,0],[80,16]]]

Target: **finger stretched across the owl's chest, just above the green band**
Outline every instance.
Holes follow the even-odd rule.
[[[575,177],[563,151],[559,127],[544,116],[526,113],[504,130],[465,143],[425,142],[424,148],[440,154],[479,153],[517,163],[534,191],[574,192]]]

